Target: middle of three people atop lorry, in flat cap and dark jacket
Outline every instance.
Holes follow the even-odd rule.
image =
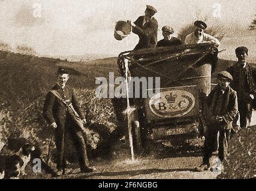
[[[175,38],[174,36],[171,36],[174,33],[174,30],[170,26],[164,26],[162,27],[162,36],[164,36],[164,39],[159,41],[156,45],[156,47],[173,47],[176,45],[181,45],[182,42],[180,39]]]

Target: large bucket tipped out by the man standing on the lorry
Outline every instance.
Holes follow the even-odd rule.
[[[118,41],[122,41],[126,36],[128,36],[131,33],[131,23],[125,20],[120,20],[116,22],[115,27],[115,39]]]

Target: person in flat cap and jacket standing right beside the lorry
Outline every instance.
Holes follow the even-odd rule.
[[[216,149],[217,134],[219,132],[218,156],[219,163],[212,167],[213,171],[222,170],[222,162],[227,153],[227,143],[229,140],[232,122],[237,115],[237,95],[230,87],[233,77],[230,73],[222,71],[218,73],[218,85],[206,98],[207,110],[205,114],[206,134],[203,146],[203,164],[197,167],[197,171],[210,169],[209,159]]]

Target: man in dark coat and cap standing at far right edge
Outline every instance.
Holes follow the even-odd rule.
[[[240,115],[240,127],[248,128],[252,118],[252,101],[256,97],[256,67],[247,63],[248,48],[236,48],[238,61],[233,66],[228,67],[227,72],[233,76],[230,86],[236,90],[238,98],[238,110]],[[238,120],[234,120],[234,127]],[[237,129],[234,129],[237,131]]]

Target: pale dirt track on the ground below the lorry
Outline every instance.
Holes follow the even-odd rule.
[[[118,143],[120,144],[120,143]],[[121,143],[122,144],[122,143]],[[213,156],[212,162],[217,159]],[[195,172],[194,169],[201,164],[200,149],[169,149],[164,147],[154,148],[149,155],[131,161],[129,147],[122,145],[120,150],[113,154],[109,161],[98,159],[92,162],[97,168],[95,172],[80,174],[79,169],[67,174],[64,178],[86,179],[177,179],[177,178],[216,178],[218,172]]]

